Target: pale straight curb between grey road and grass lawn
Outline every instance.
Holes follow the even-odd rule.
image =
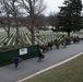
[[[57,65],[54,65],[54,66],[51,66],[51,67],[49,67],[49,68],[46,68],[46,69],[44,69],[44,70],[42,70],[42,71],[38,71],[38,72],[36,72],[36,73],[34,73],[34,74],[32,74],[32,75],[29,75],[29,77],[26,77],[26,78],[24,78],[24,79],[22,79],[22,80],[19,80],[19,81],[16,81],[16,82],[23,82],[23,81],[25,81],[25,80],[28,80],[28,79],[37,75],[37,74],[40,74],[40,73],[43,73],[43,72],[45,72],[45,71],[48,71],[48,70],[50,70],[50,69],[52,69],[52,68],[55,68],[55,67],[58,67],[58,66],[60,66],[60,65],[63,65],[63,63],[72,60],[72,59],[74,59],[74,58],[76,58],[76,57],[79,57],[79,56],[81,56],[81,55],[83,55],[83,52],[80,52],[80,54],[78,54],[78,55],[75,55],[75,56],[73,56],[73,57],[71,57],[71,58],[68,58],[68,59],[66,59],[66,60],[63,60],[63,61],[61,61],[61,62],[59,62],[59,63],[57,63]]]

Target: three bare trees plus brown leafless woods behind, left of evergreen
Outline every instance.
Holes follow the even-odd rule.
[[[32,45],[34,45],[35,27],[52,25],[56,21],[54,20],[56,15],[42,15],[45,9],[44,0],[0,0],[0,26],[5,30],[8,37],[10,28],[15,27],[16,38],[20,37],[19,27],[27,27],[32,33]]]

